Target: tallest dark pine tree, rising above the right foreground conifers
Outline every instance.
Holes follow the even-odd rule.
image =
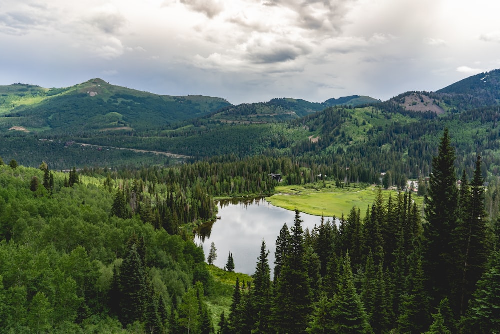
[[[426,239],[425,275],[427,291],[434,307],[450,296],[457,286],[456,252],[453,238],[458,220],[458,189],[454,167],[455,150],[451,146],[448,129],[439,143],[439,152],[432,158],[432,173],[425,196],[424,235]]]

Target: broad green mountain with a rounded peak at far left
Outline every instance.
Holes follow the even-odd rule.
[[[230,103],[199,95],[168,96],[91,79],[67,88],[0,86],[0,130],[154,130],[201,117]]]

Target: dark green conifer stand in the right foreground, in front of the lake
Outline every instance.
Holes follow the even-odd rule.
[[[276,239],[271,280],[262,243],[253,284],[233,294],[221,333],[494,333],[500,330],[500,223],[484,209],[481,159],[457,187],[445,130],[432,158],[425,216],[411,194],[363,220],[303,231],[300,213]]]

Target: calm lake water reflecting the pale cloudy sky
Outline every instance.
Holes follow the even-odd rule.
[[[286,223],[288,228],[293,225],[295,211],[279,208],[269,204],[265,199],[251,201],[226,201],[218,203],[220,220],[217,220],[210,230],[205,231],[204,238],[196,237],[196,243],[202,244],[203,251],[208,256],[212,241],[217,249],[217,259],[214,264],[223,268],[227,263],[229,252],[234,259],[234,271],[253,274],[260,256],[262,239],[269,251],[269,266],[274,267],[274,251],[279,231]],[[302,228],[312,230],[314,225],[321,224],[321,217],[300,213],[303,220]],[[332,218],[325,217],[326,220]],[[204,239],[204,241],[203,241]]]

